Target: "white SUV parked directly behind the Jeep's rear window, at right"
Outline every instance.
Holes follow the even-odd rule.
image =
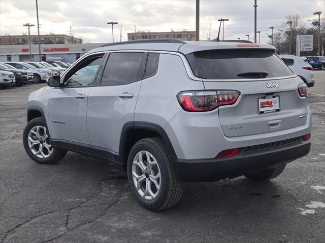
[[[306,58],[288,55],[279,55],[279,57],[294,73],[303,79],[308,87],[315,85],[313,67],[304,61]]]

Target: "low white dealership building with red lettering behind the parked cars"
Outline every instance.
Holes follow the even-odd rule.
[[[88,51],[103,44],[104,43],[41,45],[42,61],[55,60],[73,63]],[[39,46],[31,45],[31,50],[29,50],[29,45],[0,45],[0,61],[40,61]]]

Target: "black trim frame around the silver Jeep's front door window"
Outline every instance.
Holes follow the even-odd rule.
[[[88,59],[90,58],[93,58],[94,56],[103,56],[103,60],[101,62],[101,64],[98,66],[98,69],[96,71],[96,74],[94,76],[94,82],[92,85],[87,85],[87,86],[63,86],[64,83],[67,82],[67,79],[70,77],[69,75],[73,72],[75,72],[76,69],[78,69],[78,67],[80,66],[81,63],[83,63],[84,61],[87,61]],[[99,77],[99,73],[100,71],[102,70],[102,66],[103,66],[103,63],[104,63],[104,60],[106,59],[106,56],[107,56],[107,52],[99,52],[99,53],[93,53],[93,54],[90,54],[90,55],[87,55],[85,58],[83,59],[80,59],[80,62],[76,63],[76,65],[74,65],[70,70],[69,72],[67,73],[64,73],[64,76],[62,77],[62,79],[60,80],[60,84],[62,86],[60,87],[56,87],[58,89],[71,89],[71,88],[87,88],[87,87],[94,87],[97,80],[98,80],[98,77]]]

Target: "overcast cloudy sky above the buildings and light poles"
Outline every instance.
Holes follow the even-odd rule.
[[[119,41],[122,25],[122,41],[127,32],[139,31],[195,30],[195,1],[86,1],[86,0],[39,0],[40,33],[70,34],[69,26],[76,37],[83,37],[90,43]],[[211,23],[211,39],[217,35],[218,18],[229,18],[225,22],[224,36],[235,39],[253,38],[254,31],[253,0],[201,0],[200,39],[207,39]],[[289,14],[299,14],[306,19],[315,19],[313,12],[325,10],[324,0],[257,0],[257,30],[261,31],[261,43],[268,41],[270,26],[276,26]],[[24,23],[37,24],[35,0],[1,0],[0,34],[22,34],[27,32]],[[31,27],[31,34],[37,28]]]

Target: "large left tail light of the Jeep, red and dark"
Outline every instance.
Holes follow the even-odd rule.
[[[177,99],[186,111],[210,111],[220,105],[234,104],[239,94],[236,90],[182,91]]]

